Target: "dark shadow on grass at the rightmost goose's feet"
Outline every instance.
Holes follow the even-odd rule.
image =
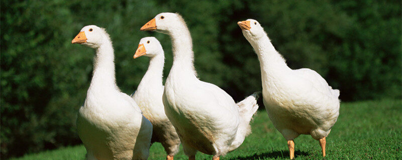
[[[294,151],[294,157],[297,158],[297,156],[300,155],[309,155],[308,152],[305,151],[300,151],[300,150],[295,150]],[[278,158],[278,157],[289,157],[289,150],[280,150],[280,151],[271,151],[271,152],[266,152],[266,153],[260,153],[257,154],[255,153],[254,155],[248,155],[248,156],[238,156],[231,158],[230,160],[248,160],[248,159],[264,159],[264,158]]]

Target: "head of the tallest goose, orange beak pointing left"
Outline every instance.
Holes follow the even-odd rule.
[[[185,26],[183,18],[177,13],[163,12],[145,23],[140,30],[151,30],[161,33],[169,33]]]

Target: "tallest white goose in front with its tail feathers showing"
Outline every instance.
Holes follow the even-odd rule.
[[[179,135],[188,159],[197,151],[214,160],[239,147],[250,132],[249,122],[258,109],[257,93],[236,103],[223,89],[197,78],[190,32],[177,13],[159,13],[141,30],[169,34],[173,65],[163,92],[165,112]]]

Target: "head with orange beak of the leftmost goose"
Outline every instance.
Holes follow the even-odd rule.
[[[84,26],[81,31],[71,40],[71,43],[84,44],[91,48],[97,48],[109,39],[109,34],[104,28],[96,25]]]

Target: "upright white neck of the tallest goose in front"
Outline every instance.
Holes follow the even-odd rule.
[[[169,34],[173,41],[173,65],[171,71],[179,71],[196,78],[190,31],[183,24],[182,27],[170,30]]]

